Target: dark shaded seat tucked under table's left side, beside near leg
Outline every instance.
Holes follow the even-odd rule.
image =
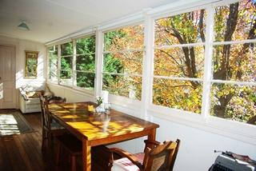
[[[82,154],[82,141],[78,138],[70,135],[69,133],[64,133],[56,137],[58,143],[62,145],[71,155],[81,155]]]

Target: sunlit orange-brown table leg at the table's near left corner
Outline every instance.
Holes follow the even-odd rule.
[[[82,139],[82,170],[90,171],[90,165],[90,143],[89,141]]]

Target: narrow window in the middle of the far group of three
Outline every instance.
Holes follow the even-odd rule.
[[[73,85],[73,42],[61,45],[60,84]]]

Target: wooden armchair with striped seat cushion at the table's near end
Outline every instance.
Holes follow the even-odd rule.
[[[118,170],[141,170],[141,171],[170,171],[174,168],[174,161],[177,157],[180,140],[164,141],[145,141],[144,153],[130,154],[122,149],[110,149],[110,168]],[[115,160],[113,154],[123,157]],[[137,167],[136,167],[137,166]]]

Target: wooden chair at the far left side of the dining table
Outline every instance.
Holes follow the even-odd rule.
[[[65,102],[66,99],[62,99],[59,101],[54,101],[55,103],[58,102]],[[48,109],[48,100],[47,97],[40,96],[40,104],[41,104],[41,111],[42,111],[42,150],[52,143],[52,138],[65,133],[66,130],[59,125],[57,122],[52,121],[50,117],[49,109]]]

